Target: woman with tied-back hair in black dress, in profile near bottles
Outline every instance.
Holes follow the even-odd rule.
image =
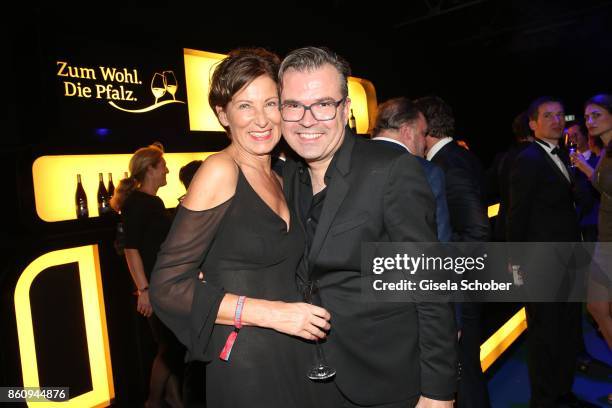
[[[147,407],[182,406],[178,378],[185,350],[176,337],[153,314],[149,279],[159,247],[170,229],[164,203],[157,190],[166,185],[168,168],[161,144],[138,149],[130,159],[130,177],[121,180],[111,206],[121,212],[125,229],[125,259],[137,288],[137,311],[147,318],[157,354],[151,367]]]

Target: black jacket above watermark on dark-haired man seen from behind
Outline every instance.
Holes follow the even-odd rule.
[[[452,141],[431,162],[440,166],[446,177],[446,201],[453,230],[451,241],[488,241],[484,172],[478,158]]]

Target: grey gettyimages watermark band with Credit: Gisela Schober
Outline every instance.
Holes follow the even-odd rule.
[[[611,248],[577,242],[365,243],[362,297],[393,302],[582,302],[596,277],[610,276]]]

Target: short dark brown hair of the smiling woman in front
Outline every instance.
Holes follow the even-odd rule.
[[[263,48],[239,48],[230,51],[228,56],[215,66],[210,80],[208,104],[215,115],[217,106],[227,106],[238,91],[260,76],[265,75],[278,82],[279,65],[278,56]]]

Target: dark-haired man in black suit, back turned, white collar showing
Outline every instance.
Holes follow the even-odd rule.
[[[484,174],[480,162],[454,140],[452,109],[436,96],[416,101],[425,115],[427,160],[437,164],[446,178],[446,200],[453,242],[487,241],[489,220],[485,207]],[[478,303],[457,304],[460,321],[459,362],[461,375],[457,392],[460,408],[489,407],[487,384],[480,365],[482,308]]]

